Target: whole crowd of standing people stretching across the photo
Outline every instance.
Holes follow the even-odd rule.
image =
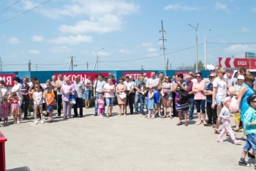
[[[118,83],[113,76],[105,81],[102,75],[96,75],[94,80],[90,75],[84,82],[77,76],[72,83],[69,77],[64,78],[61,74],[58,80],[53,75],[45,86],[40,85],[37,77],[31,77],[31,82],[29,77],[23,77],[21,84],[20,78],[15,77],[14,83],[12,91],[8,91],[4,80],[0,80],[0,119],[4,126],[9,124],[10,115],[13,115],[13,123],[19,124],[22,119],[28,119],[29,105],[34,111],[35,124],[39,120],[44,123],[45,118],[48,123],[52,123],[55,102],[57,118],[61,117],[61,107],[64,120],[78,117],[78,108],[79,117],[83,118],[83,94],[86,94],[86,109],[91,107],[91,100],[94,100],[94,115],[109,118],[113,115],[113,104],[117,97],[118,116],[127,115],[129,107],[128,114],[142,114],[148,119],[157,116],[171,119],[178,117],[177,126],[189,126],[188,121],[194,119],[196,108],[197,125],[212,126],[214,133],[219,134],[217,142],[223,142],[222,136],[227,134],[234,144],[238,144],[241,140],[236,140],[233,131],[244,132],[241,139],[246,141],[246,145],[239,165],[250,166],[245,156],[248,153],[248,156],[254,157],[256,153],[256,82],[255,77],[245,68],[239,69],[236,76],[232,77],[225,68],[216,66],[215,73],[208,75],[208,83],[201,72],[189,72],[186,77],[180,73],[170,78],[163,72],[157,76],[154,71],[149,78],[143,73],[138,75],[137,80],[132,76],[119,77]],[[73,116],[71,95],[75,95]],[[43,115],[43,110],[46,115]],[[230,125],[231,115],[234,115],[235,129]],[[222,132],[219,129],[221,122]]]

